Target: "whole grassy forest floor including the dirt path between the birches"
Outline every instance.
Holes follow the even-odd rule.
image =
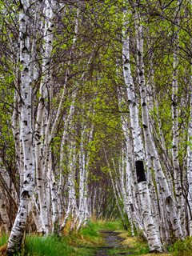
[[[7,238],[0,238],[0,246]],[[168,256],[148,254],[148,246],[142,238],[131,237],[119,222],[89,222],[78,233],[65,230],[62,238],[26,236],[22,256]],[[0,255],[1,252],[0,252]]]

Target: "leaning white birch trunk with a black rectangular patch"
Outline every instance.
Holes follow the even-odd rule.
[[[143,166],[143,148],[142,148],[142,137],[141,137],[141,128],[138,123],[138,106],[135,98],[134,92],[134,82],[133,78],[130,73],[130,54],[129,54],[129,38],[123,38],[123,74],[126,82],[127,87],[127,94],[128,94],[128,101],[129,101],[129,108],[130,108],[130,125],[132,129],[132,136],[134,140],[134,158],[136,161],[136,169],[137,169],[137,162],[139,166]],[[144,171],[144,170],[143,170]],[[143,172],[142,171],[142,172]],[[150,204],[150,197],[149,191],[147,187],[146,178],[139,178],[138,177],[138,188],[141,197],[141,208],[142,208],[142,218],[143,224],[146,231],[147,241],[149,242],[150,250],[151,251],[162,251],[162,243],[158,236],[158,231],[156,226],[154,225],[154,219],[151,215],[151,209],[149,207]]]

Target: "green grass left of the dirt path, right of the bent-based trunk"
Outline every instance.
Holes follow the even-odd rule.
[[[103,246],[99,230],[119,230],[119,228],[122,228],[119,222],[98,221],[88,222],[79,232],[70,232],[70,228],[66,226],[61,238],[55,236],[38,237],[30,234],[26,236],[24,255],[94,255],[95,246]]]

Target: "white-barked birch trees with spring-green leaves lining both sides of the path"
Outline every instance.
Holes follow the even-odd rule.
[[[117,212],[151,251],[191,235],[190,3],[27,0],[0,10],[7,254],[26,229],[58,234],[69,219],[79,230]]]

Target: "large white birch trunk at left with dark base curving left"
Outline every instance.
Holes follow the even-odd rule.
[[[21,188],[21,197],[18,214],[10,233],[7,246],[7,254],[13,255],[20,250],[22,238],[26,230],[28,217],[28,204],[34,192],[34,154],[33,154],[33,130],[32,130],[32,81],[30,69],[30,1],[22,1],[22,9],[19,14],[19,38],[20,38],[20,62],[21,70],[21,138],[24,154],[24,177]]]

